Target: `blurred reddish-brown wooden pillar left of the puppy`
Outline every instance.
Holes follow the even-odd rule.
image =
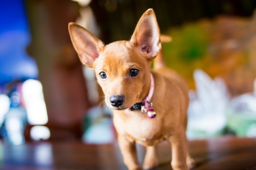
[[[51,139],[78,139],[90,104],[67,25],[76,20],[79,6],[71,0],[25,0],[25,3],[31,31],[27,50],[38,65]]]

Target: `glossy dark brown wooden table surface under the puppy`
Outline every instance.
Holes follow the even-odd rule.
[[[219,137],[189,141],[193,170],[256,170],[256,138]],[[144,147],[137,146],[142,163]],[[171,170],[171,149],[159,144],[160,165]],[[116,142],[92,145],[79,141],[0,146],[0,170],[127,170]]]

